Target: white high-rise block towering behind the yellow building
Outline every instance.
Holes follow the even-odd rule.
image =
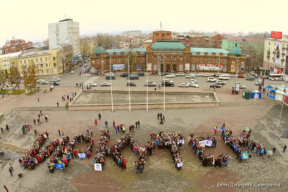
[[[56,45],[64,45],[65,40],[68,39],[73,45],[73,56],[80,55],[79,23],[73,22],[72,19],[49,23],[48,33],[50,49]]]

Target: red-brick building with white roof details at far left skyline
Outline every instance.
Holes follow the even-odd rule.
[[[24,51],[25,49],[28,49],[29,47],[33,46],[33,42],[28,41],[26,42],[23,39],[16,39],[15,37],[12,37],[11,40],[6,40],[5,45],[2,47],[2,54],[9,54],[9,53],[16,53],[20,51]]]

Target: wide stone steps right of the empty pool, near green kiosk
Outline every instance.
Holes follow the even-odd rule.
[[[251,106],[251,105],[277,105],[275,100],[266,100],[266,101],[223,101],[219,102],[219,107],[238,107],[238,106]]]

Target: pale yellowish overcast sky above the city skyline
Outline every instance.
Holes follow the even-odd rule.
[[[48,38],[48,23],[71,18],[80,23],[80,35],[127,30],[234,33],[282,31],[288,33],[287,0],[205,1],[20,1],[1,0],[0,45],[11,37],[26,41]],[[274,7],[274,8],[273,8]]]

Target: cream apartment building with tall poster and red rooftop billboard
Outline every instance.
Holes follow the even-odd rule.
[[[270,68],[272,73],[288,74],[288,39],[264,39],[264,58],[262,67]],[[286,71],[286,73],[285,73]]]

